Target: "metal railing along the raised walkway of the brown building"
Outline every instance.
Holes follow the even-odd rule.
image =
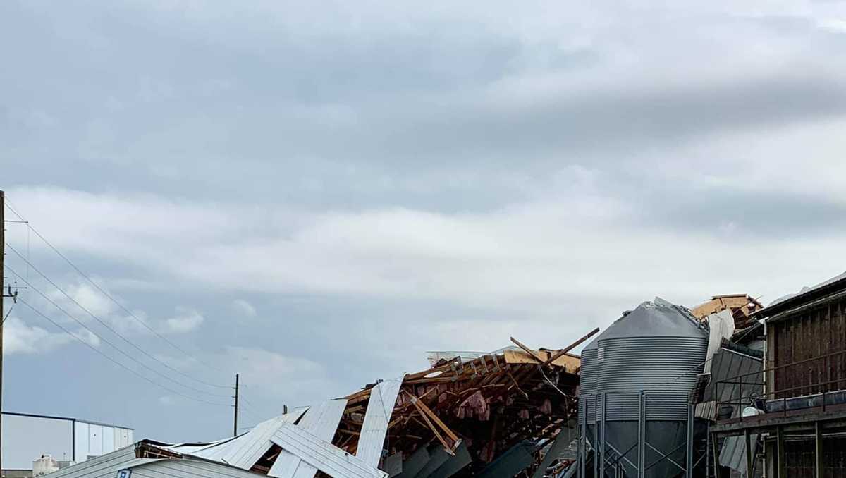
[[[759,402],[760,400],[763,400],[765,402],[775,401],[776,403],[777,403],[777,400],[782,400],[782,410],[780,410],[780,411],[783,412],[784,416],[787,416],[788,415],[788,400],[794,399],[794,398],[801,398],[801,397],[809,396],[809,395],[819,395],[819,396],[821,396],[820,406],[821,406],[822,411],[825,411],[826,405],[827,405],[826,404],[827,393],[830,394],[832,392],[846,390],[846,363],[843,363],[842,365],[838,365],[837,371],[835,371],[835,373],[838,375],[836,378],[829,379],[829,380],[821,380],[821,381],[817,381],[817,382],[802,383],[802,384],[794,386],[794,387],[766,389],[766,388],[772,387],[773,384],[772,383],[767,384],[766,378],[762,378],[762,377],[772,376],[773,381],[778,382],[779,379],[785,380],[783,375],[781,377],[777,376],[778,371],[785,371],[785,370],[788,370],[792,367],[794,368],[794,367],[797,367],[797,366],[800,366],[800,365],[810,364],[810,363],[821,361],[821,360],[829,360],[829,359],[832,359],[832,357],[838,357],[838,356],[842,356],[842,355],[846,355],[846,349],[839,350],[837,352],[832,352],[832,353],[829,353],[829,354],[819,355],[819,356],[816,356],[816,357],[812,357],[810,359],[797,360],[797,361],[791,362],[789,364],[766,367],[766,368],[764,368],[760,371],[753,371],[753,372],[749,372],[749,373],[744,373],[744,374],[741,374],[741,375],[738,375],[738,376],[729,377],[728,379],[725,379],[725,380],[717,381],[713,384],[713,387],[711,387],[711,400],[713,402],[715,402],[715,404],[717,406],[717,409],[715,410],[716,414],[717,414],[717,416],[719,416],[719,411],[720,411],[721,405],[732,405],[732,406],[737,407],[737,412],[738,412],[738,416],[732,417],[732,418],[739,418],[740,420],[744,420],[744,418],[748,418],[748,417],[743,416],[744,407],[755,404],[756,402]],[[815,369],[816,369],[816,367],[811,368],[810,372],[812,373],[813,371],[815,371]],[[821,369],[816,369],[816,370],[821,370]],[[830,373],[830,369],[829,369],[829,371],[827,371],[827,373]],[[843,383],[843,387],[840,387],[841,383]],[[832,384],[835,384],[834,387],[829,387]],[[766,387],[766,385],[769,385],[770,387]],[[737,397],[736,398],[734,397],[735,393],[734,393],[734,389],[732,389],[732,391],[730,393],[730,397],[728,398],[728,400],[727,399],[721,399],[721,397],[722,397],[722,393],[720,393],[721,392],[721,386],[722,386],[722,391],[725,390],[726,386],[730,386],[730,387],[733,387],[733,388],[735,386],[737,386],[737,393],[736,393]],[[747,387],[747,389],[749,389],[749,393],[744,393],[744,387]],[[803,392],[807,391],[807,393],[799,393],[799,394],[794,393],[797,390],[803,391]],[[808,409],[808,408],[816,408],[816,407],[802,407],[802,408]],[[765,405],[764,411],[766,412],[766,405]]]

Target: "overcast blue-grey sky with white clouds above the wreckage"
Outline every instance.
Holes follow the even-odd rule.
[[[6,410],[231,432],[183,396],[228,390],[92,316],[239,372],[250,425],[426,350],[562,347],[656,295],[766,303],[846,268],[843,2],[7,0],[0,24],[0,187],[188,353],[8,223],[91,315],[7,250],[15,272],[170,380],[22,297],[171,390],[18,305]]]

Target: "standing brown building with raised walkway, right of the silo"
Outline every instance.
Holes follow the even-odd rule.
[[[749,443],[744,475],[846,476],[846,274],[753,316],[766,327],[764,373],[738,372],[719,384],[742,384],[733,400],[761,413],[718,420],[712,432]]]

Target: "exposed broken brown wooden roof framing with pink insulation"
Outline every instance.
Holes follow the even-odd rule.
[[[427,447],[431,456],[426,459],[431,460],[440,455],[437,449],[455,449],[466,441],[473,463],[459,472],[462,475],[481,470],[521,440],[553,437],[568,418],[575,420],[580,367],[580,358],[574,354],[564,354],[544,367],[555,387],[568,395],[563,396],[539,371],[539,365],[554,354],[549,350],[532,350],[529,354],[521,349],[504,349],[470,361],[462,360],[459,354],[405,376],[388,426],[387,453],[404,453],[406,464],[415,465],[412,462],[423,456]],[[349,453],[355,453],[359,446],[361,414],[368,408],[375,387],[347,397],[348,409],[333,443]],[[441,423],[430,420],[426,409]],[[448,437],[446,430],[454,432],[459,442]]]

